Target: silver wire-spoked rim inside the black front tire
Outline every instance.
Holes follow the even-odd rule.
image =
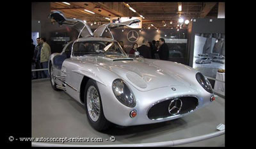
[[[86,103],[90,118],[93,122],[97,122],[100,116],[100,99],[99,93],[94,86],[90,86],[87,90]]]

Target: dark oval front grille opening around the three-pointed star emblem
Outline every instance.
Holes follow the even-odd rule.
[[[169,113],[168,106],[174,99],[175,98],[171,98],[152,106],[148,111],[148,118],[150,120],[156,120],[158,118],[173,116]],[[179,97],[179,99],[182,101],[182,108],[180,109],[179,114],[188,113],[189,111],[196,109],[198,106],[198,99],[196,97]]]

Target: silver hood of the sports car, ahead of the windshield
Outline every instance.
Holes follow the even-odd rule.
[[[189,86],[175,70],[164,70],[164,68],[143,58],[127,58],[125,56],[97,56],[97,65],[107,68],[119,75],[124,81],[129,82],[140,91],[154,90],[166,86]],[[168,61],[170,62],[170,61]],[[172,65],[173,62],[170,62]],[[169,63],[168,63],[169,65]]]

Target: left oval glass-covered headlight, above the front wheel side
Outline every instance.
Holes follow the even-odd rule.
[[[122,79],[115,79],[112,84],[116,98],[127,107],[135,107],[136,100],[128,85]]]

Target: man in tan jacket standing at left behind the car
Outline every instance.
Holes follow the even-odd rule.
[[[51,47],[48,43],[46,43],[46,39],[43,37],[41,38],[42,49],[40,54],[40,62],[42,63],[43,68],[48,68],[48,59],[51,55]],[[49,77],[48,70],[44,70],[44,77]]]

